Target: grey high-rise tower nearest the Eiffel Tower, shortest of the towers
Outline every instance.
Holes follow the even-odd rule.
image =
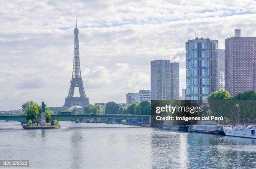
[[[179,63],[151,61],[151,100],[179,99]]]

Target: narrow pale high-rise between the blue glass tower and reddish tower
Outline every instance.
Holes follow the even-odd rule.
[[[225,50],[218,49],[218,90],[225,89]]]

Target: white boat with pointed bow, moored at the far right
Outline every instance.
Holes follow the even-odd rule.
[[[228,126],[224,127],[223,131],[227,136],[246,137],[256,139],[256,126]]]

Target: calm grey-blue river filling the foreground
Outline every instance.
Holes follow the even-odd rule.
[[[0,160],[24,168],[256,169],[256,140],[120,124],[60,122],[25,130],[0,121]]]

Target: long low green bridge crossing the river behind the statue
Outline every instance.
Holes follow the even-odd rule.
[[[38,120],[41,116],[38,116]],[[51,120],[68,121],[76,119],[141,119],[149,121],[150,115],[129,114],[51,114]],[[0,120],[27,121],[25,114],[1,114]],[[147,122],[148,123],[148,122]]]

